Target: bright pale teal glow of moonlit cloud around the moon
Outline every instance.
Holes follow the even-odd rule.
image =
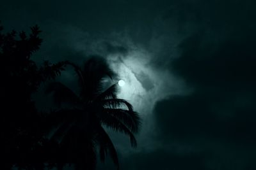
[[[151,114],[154,107],[152,103],[172,94],[170,90],[166,89],[174,89],[173,93],[177,93],[179,88],[183,87],[177,80],[165,81],[166,77],[173,78],[173,76],[170,75],[169,71],[159,72],[154,67],[148,66],[147,63],[150,62],[150,59],[152,59],[150,53],[143,50],[143,48],[131,50],[127,57],[118,55],[108,57],[112,69],[118,73],[119,78],[124,78],[123,81],[125,80],[125,85],[123,87],[120,86],[121,88],[118,90],[118,98],[127,100],[134,106],[134,110],[142,115]],[[143,83],[147,82],[140,80],[140,73],[147,74],[151,83],[154,84],[154,88],[146,90],[143,87]],[[118,85],[122,82],[120,79],[116,81],[118,81]],[[176,84],[176,82],[178,83]]]

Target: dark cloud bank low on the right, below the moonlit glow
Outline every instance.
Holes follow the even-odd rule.
[[[157,134],[166,140],[208,138],[252,145],[256,141],[256,107],[240,102],[198,93],[170,97],[156,104]]]

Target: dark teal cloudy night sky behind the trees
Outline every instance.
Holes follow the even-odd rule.
[[[249,170],[256,169],[255,7],[253,0],[16,0],[1,1],[0,20],[6,31],[40,26],[38,63],[108,60],[125,81],[119,97],[143,118],[137,148],[109,131],[121,169]],[[75,87],[74,75],[67,69],[59,79]],[[110,159],[98,165],[114,167]]]

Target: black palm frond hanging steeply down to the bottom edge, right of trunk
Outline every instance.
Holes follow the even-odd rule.
[[[100,125],[98,129],[98,136],[97,141],[99,143],[99,152],[100,152],[100,159],[102,162],[105,160],[106,155],[110,154],[111,159],[113,160],[114,164],[116,165],[117,169],[119,169],[119,163],[118,163],[118,156],[116,153],[115,146],[113,145],[111,139],[109,138],[106,131],[103,129],[103,127]]]

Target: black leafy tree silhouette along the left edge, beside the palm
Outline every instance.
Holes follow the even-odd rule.
[[[1,24],[1,23],[0,23]],[[31,60],[41,43],[39,27],[31,27],[31,33],[3,33],[0,26],[0,74],[1,74],[1,169],[44,169],[44,124],[31,100],[31,94],[38,90],[45,80],[61,74],[64,62],[38,67]]]

